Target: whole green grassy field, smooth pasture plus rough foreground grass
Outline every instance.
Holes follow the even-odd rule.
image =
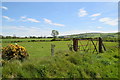
[[[104,53],[71,52],[72,41],[20,42],[29,59],[11,61],[3,67],[3,78],[118,78],[118,43],[104,42]],[[83,45],[87,42],[83,41]],[[3,43],[5,47],[10,43]],[[13,44],[13,43],[12,43]],[[55,56],[51,56],[55,44]]]

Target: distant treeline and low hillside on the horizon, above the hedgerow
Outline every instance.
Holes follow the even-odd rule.
[[[118,38],[120,33],[83,33],[83,34],[74,34],[74,35],[64,35],[64,36],[58,36],[58,38],[96,38],[96,37],[102,37],[102,38]],[[46,37],[46,36],[26,36],[26,37],[17,37],[15,35],[13,36],[3,36],[0,35],[0,38],[2,39],[15,39],[15,38],[53,38],[53,37]]]

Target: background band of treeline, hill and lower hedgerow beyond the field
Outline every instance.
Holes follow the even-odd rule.
[[[66,35],[66,36],[58,36],[55,40],[53,37],[36,37],[36,36],[29,36],[29,37],[17,37],[17,36],[2,36],[0,35],[1,39],[32,39],[32,40],[13,40],[13,41],[5,41],[5,42],[41,42],[41,41],[69,41],[73,38],[98,38],[102,37],[103,41],[108,42],[118,42],[120,41],[120,35],[118,33],[85,33],[85,34],[76,34],[76,35]],[[51,38],[51,40],[46,40],[45,38]],[[34,40],[34,39],[42,39],[42,40]],[[4,41],[3,41],[4,42]]]

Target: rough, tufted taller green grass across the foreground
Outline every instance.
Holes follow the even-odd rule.
[[[6,63],[3,78],[118,78],[119,58],[112,50],[101,54],[59,51],[53,57]]]

